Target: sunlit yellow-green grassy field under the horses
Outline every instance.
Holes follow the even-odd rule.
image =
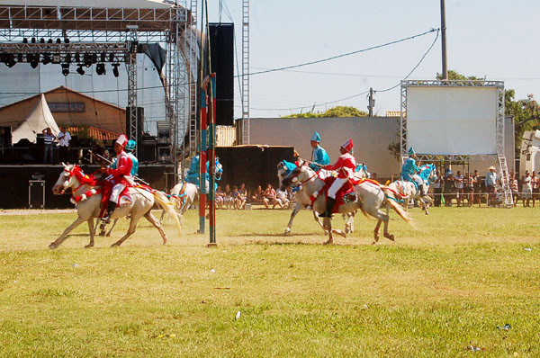
[[[284,237],[289,210],[220,210],[208,248],[190,210],[167,246],[141,221],[109,248],[123,221],[54,251],[75,214],[0,216],[0,355],[540,356],[540,209],[412,213],[377,246],[362,217],[321,246],[307,211]]]

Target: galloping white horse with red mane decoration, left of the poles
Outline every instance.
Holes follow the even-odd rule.
[[[65,164],[63,164],[63,166],[64,170],[60,173],[58,181],[52,187],[52,192],[55,195],[61,195],[65,193],[67,189],[71,189],[71,199],[76,202],[78,218],[64,230],[60,237],[49,245],[49,248],[52,249],[60,246],[64,240],[66,240],[67,234],[85,221],[88,223],[88,229],[90,231],[90,242],[85,247],[92,247],[94,246],[94,218],[99,218],[101,210],[101,186],[92,176],[85,175],[78,166]],[[135,232],[137,222],[142,217],[148,219],[148,221],[157,228],[157,231],[159,231],[159,234],[163,239],[163,244],[166,244],[165,232],[163,231],[163,228],[161,228],[159,221],[152,215],[151,210],[155,201],[157,201],[164,210],[167,210],[174,216],[178,232],[180,235],[182,234],[180,220],[176,216],[176,212],[165,193],[139,187],[129,187],[129,192],[131,202],[128,205],[114,210],[112,212],[112,219],[121,218],[130,214],[130,228],[126,235],[112,244],[112,246],[121,246],[121,244]]]

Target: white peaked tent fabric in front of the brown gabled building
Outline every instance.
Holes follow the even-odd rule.
[[[41,133],[47,127],[50,128],[52,134],[58,136],[60,130],[57,122],[54,120],[52,113],[49,110],[49,105],[45,100],[45,95],[41,94],[40,101],[31,111],[30,115],[23,121],[12,133],[13,142],[17,143],[21,139],[28,139],[32,143],[36,142],[37,134]]]

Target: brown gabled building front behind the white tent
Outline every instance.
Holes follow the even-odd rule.
[[[94,101],[91,98],[71,92],[58,91],[45,94],[47,103],[84,103],[85,112],[52,112],[58,126],[87,125],[114,133],[125,131],[125,110]],[[34,109],[39,97],[22,103],[0,108],[0,126],[11,126],[15,130]]]

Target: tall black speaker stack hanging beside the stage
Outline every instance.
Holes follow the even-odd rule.
[[[211,71],[216,73],[216,124],[234,125],[234,23],[210,23]]]

